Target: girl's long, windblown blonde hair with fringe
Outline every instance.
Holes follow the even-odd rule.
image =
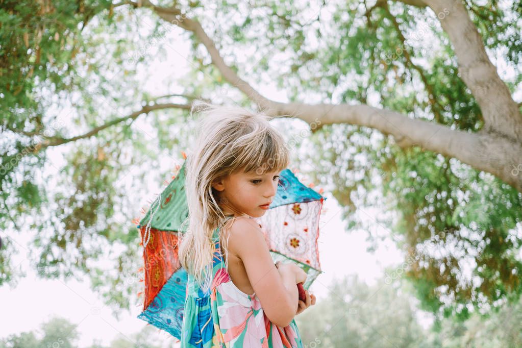
[[[258,175],[282,171],[288,166],[290,155],[282,135],[269,123],[273,117],[263,112],[252,113],[238,106],[201,101],[193,103],[191,116],[194,111],[201,118],[196,128],[199,130],[197,141],[185,163],[188,229],[182,235],[179,259],[206,293],[212,281],[215,249],[212,234],[220,227],[222,241],[222,227],[227,219],[218,205],[219,194],[212,183],[239,171]],[[239,211],[235,214],[243,215]],[[222,241],[228,269],[227,246],[228,238]]]

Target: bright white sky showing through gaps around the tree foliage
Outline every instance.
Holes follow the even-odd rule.
[[[188,55],[188,42],[183,40],[180,33],[181,31],[176,28],[172,28],[168,32],[167,37],[159,43],[163,49],[167,50],[168,58],[150,63],[150,69],[143,71],[144,76],[147,76],[144,78],[146,82],[143,88],[151,91],[151,94],[182,92],[180,86],[172,85],[172,81],[176,80],[175,77],[183,75],[189,64],[185,59]],[[155,50],[157,47],[152,46],[150,49]],[[500,64],[499,70],[502,71],[502,62],[497,63]],[[245,77],[243,76],[243,78]],[[167,85],[171,85],[170,88],[165,88]],[[281,95],[284,96],[284,92],[279,91],[276,86],[265,84],[256,87],[264,95],[274,100],[281,100]],[[140,118],[144,117],[144,115],[140,116]],[[143,119],[139,121],[143,121]],[[141,123],[143,124],[143,122]],[[140,123],[137,122],[137,124]],[[61,150],[51,150],[50,162],[50,170],[52,167],[56,169],[61,166]],[[322,230],[318,241],[324,273],[311,287],[311,291],[317,295],[318,301],[325,297],[330,282],[335,278],[357,274],[360,279],[373,284],[376,278],[383,276],[384,267],[398,265],[404,260],[391,242],[380,244],[375,253],[367,252],[366,248],[370,246],[366,241],[368,232],[352,230],[349,234],[346,233],[345,223],[340,220],[340,207],[329,193],[326,192],[325,196],[327,197],[324,205],[326,209],[322,215]],[[144,197],[141,205],[136,207],[134,216],[137,216],[141,206],[145,205],[146,198]],[[362,211],[361,213],[367,223],[374,226],[375,234],[389,233],[385,226],[375,223],[376,216],[383,214],[383,211]],[[131,221],[133,217],[128,217],[128,221]],[[18,244],[25,246],[22,249],[25,250],[25,253],[16,255],[14,263],[18,265],[19,270],[27,271],[27,277],[21,279],[14,289],[7,286],[0,288],[2,317],[4,318],[0,327],[0,338],[38,329],[42,322],[49,320],[52,316],[64,317],[77,324],[77,330],[81,334],[79,339],[81,347],[92,344],[93,339],[99,339],[103,344],[108,345],[117,335],[123,334],[128,338],[146,325],[146,322],[136,318],[141,311],[141,303],[133,307],[130,315],[123,314],[117,320],[102,304],[100,297],[89,290],[86,282],[70,280],[64,283],[60,280],[35,280],[35,274],[29,269],[27,261],[31,257],[30,250],[27,249],[28,236],[13,231],[0,233],[3,238],[9,235],[15,238]],[[342,262],[339,262],[339,259],[342,259]],[[172,342],[169,334],[163,331],[158,332],[158,337],[165,343]]]

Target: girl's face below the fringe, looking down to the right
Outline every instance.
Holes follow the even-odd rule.
[[[219,191],[220,207],[225,214],[262,217],[267,209],[261,206],[271,203],[276,196],[281,172],[258,175],[247,174],[242,170],[216,181],[212,187]]]

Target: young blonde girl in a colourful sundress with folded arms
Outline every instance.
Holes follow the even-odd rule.
[[[315,304],[296,284],[306,273],[276,267],[262,217],[289,163],[265,114],[196,102],[199,136],[186,160],[188,229],[179,257],[188,282],[182,347],[302,347],[294,316]]]

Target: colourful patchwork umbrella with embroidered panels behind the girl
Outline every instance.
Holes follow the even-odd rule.
[[[322,273],[317,238],[324,200],[326,197],[304,186],[292,171],[285,169],[270,209],[263,217],[255,218],[274,263],[290,260],[307,273],[304,289]],[[176,244],[179,233],[185,232],[186,225],[180,226],[187,216],[184,162],[137,226],[145,261],[144,308],[138,318],[179,340],[187,272],[181,267]]]

